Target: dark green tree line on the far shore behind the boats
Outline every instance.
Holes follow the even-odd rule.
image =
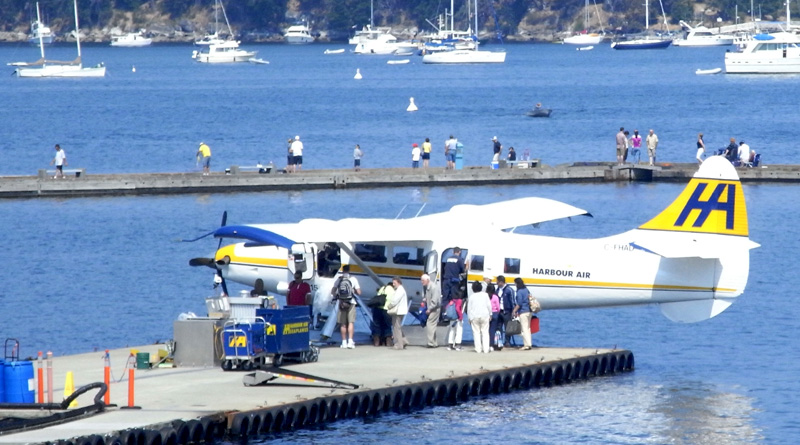
[[[421,30],[432,29],[428,21],[436,23],[437,17],[450,8],[449,0],[372,0],[376,26],[416,26]],[[454,19],[465,24],[468,20],[467,1],[455,2]],[[593,0],[590,6],[594,12]],[[756,17],[764,20],[777,19],[785,15],[784,0],[758,0],[753,6]],[[312,28],[327,30],[333,38],[343,38],[360,29],[370,21],[370,0],[297,0],[297,18],[308,21]],[[650,23],[663,22],[658,1],[650,2]],[[715,21],[735,22],[737,11],[740,21],[750,16],[750,0],[661,0],[672,24],[680,20],[696,22],[703,17]],[[51,25],[72,23],[71,0],[40,0],[43,20]],[[546,22],[553,31],[568,30],[574,17],[579,16],[585,0],[479,0],[478,18],[480,26],[503,35],[516,34],[520,22],[526,16]],[[288,0],[228,0],[225,11],[231,24],[239,31],[259,30],[281,32],[294,18],[288,17]],[[36,2],[33,0],[0,0],[0,23],[4,31],[19,29],[36,18]],[[78,0],[81,26],[105,27],[115,13],[132,12],[145,17],[147,12],[167,15],[176,23],[199,14],[213,16],[215,0]],[[695,6],[702,5],[705,14],[696,14]],[[602,0],[596,7],[609,15],[610,23],[602,24],[606,29],[638,30],[644,26],[644,2],[642,0]],[[795,14],[800,16],[800,11]],[[579,20],[582,22],[582,20]],[[531,20],[528,20],[531,23]],[[582,24],[582,23],[579,23]],[[714,25],[715,23],[707,23]],[[147,23],[137,23],[146,27]],[[596,23],[584,24],[592,29]],[[70,25],[71,26],[71,25]]]

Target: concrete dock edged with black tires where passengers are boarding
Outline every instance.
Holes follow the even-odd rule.
[[[418,333],[408,332],[412,343]],[[419,344],[419,343],[417,343]],[[162,346],[135,348],[151,357]],[[180,346],[177,346],[180,347]],[[54,358],[54,400],[61,401],[67,371],[75,387],[103,381],[104,353]],[[128,404],[129,349],[110,352],[112,405],[88,418],[42,429],[0,435],[0,444],[184,444],[222,437],[253,436],[310,427],[337,419],[370,417],[382,412],[409,412],[434,405],[454,405],[472,397],[565,384],[632,371],[630,351],[610,349],[534,348],[477,354],[444,347],[409,346],[397,351],[358,345],[323,348],[319,361],[287,365],[319,377],[343,380],[358,389],[278,379],[263,386],[242,383],[246,372],[220,367],[154,368],[135,371],[135,406]],[[94,391],[78,399],[92,404]]]

